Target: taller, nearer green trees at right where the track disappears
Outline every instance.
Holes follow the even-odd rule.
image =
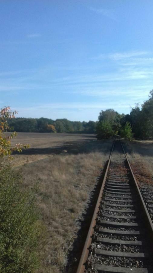
[[[153,90],[141,106],[136,104],[129,114],[119,114],[113,109],[101,111],[96,126],[97,138],[121,136],[131,140],[153,139]]]

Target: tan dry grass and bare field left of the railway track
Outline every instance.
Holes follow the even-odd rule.
[[[37,273],[76,272],[112,142],[96,140],[95,135],[59,133],[18,133],[12,141],[31,145],[14,154],[11,163],[22,170],[24,187],[39,181],[37,207],[45,236],[38,246]]]

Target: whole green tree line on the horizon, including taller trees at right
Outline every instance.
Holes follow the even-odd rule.
[[[153,139],[153,90],[141,106],[136,105],[127,115],[113,109],[101,111],[98,121],[80,122],[67,119],[15,118],[9,126],[16,132],[96,133],[97,138],[122,136],[127,139]]]

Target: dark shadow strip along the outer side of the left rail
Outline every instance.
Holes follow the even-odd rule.
[[[77,267],[80,261],[80,257],[83,251],[83,247],[86,241],[86,236],[90,227],[90,223],[93,217],[93,212],[96,207],[96,202],[98,199],[99,191],[103,182],[103,178],[106,172],[108,161],[106,162],[102,174],[97,177],[97,183],[90,193],[89,201],[86,204],[86,208],[81,215],[81,219],[78,220],[77,224],[80,226],[80,229],[77,233],[77,238],[74,240],[73,245],[69,251],[67,257],[67,267],[64,273],[76,273]]]

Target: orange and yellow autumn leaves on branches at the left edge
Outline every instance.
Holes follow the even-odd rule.
[[[18,144],[12,148],[11,139],[16,136],[17,133],[13,132],[9,136],[4,134],[5,131],[12,130],[12,128],[8,126],[8,120],[15,118],[16,113],[16,111],[12,112],[9,106],[0,110],[0,158],[3,156],[9,156],[9,158],[11,158],[11,153],[13,153],[13,151],[21,152],[22,148],[25,149],[28,147],[28,145],[25,144]]]

